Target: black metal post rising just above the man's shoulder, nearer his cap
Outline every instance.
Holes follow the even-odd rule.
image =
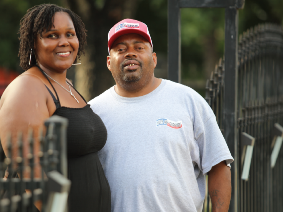
[[[168,80],[181,83],[181,27],[178,0],[168,1]]]

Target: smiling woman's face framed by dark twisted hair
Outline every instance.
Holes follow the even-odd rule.
[[[63,72],[73,64],[78,54],[79,41],[68,13],[56,12],[49,31],[37,35],[34,42],[37,63],[46,69]]]

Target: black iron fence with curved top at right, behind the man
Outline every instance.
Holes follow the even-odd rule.
[[[238,43],[236,210],[283,211],[283,32],[264,24]],[[205,99],[223,132],[224,61],[206,84]],[[228,95],[226,94],[227,98]],[[235,98],[231,93],[231,98]],[[228,130],[228,129],[226,129]],[[230,129],[233,130],[233,129]],[[209,197],[204,211],[209,211]]]

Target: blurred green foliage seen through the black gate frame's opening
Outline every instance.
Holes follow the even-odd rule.
[[[182,78],[203,78],[204,51],[215,41],[217,57],[223,55],[225,10],[218,8],[181,9]],[[214,52],[213,52],[214,53]],[[213,68],[213,67],[212,67]]]

